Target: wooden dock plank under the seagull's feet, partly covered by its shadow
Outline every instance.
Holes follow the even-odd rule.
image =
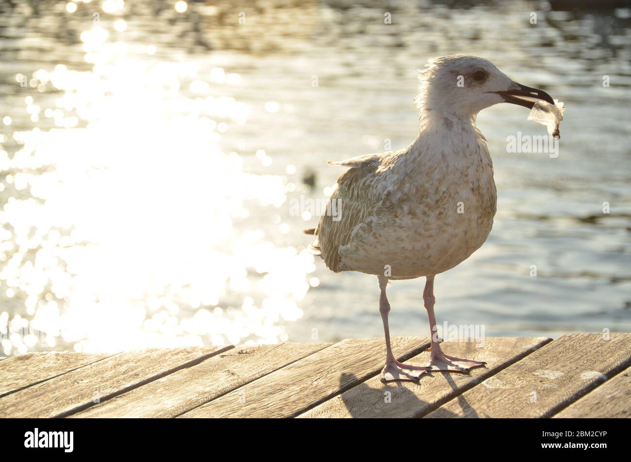
[[[478,367],[472,369],[471,374],[424,374],[418,383],[384,384],[379,377],[373,377],[298,417],[419,417],[549,341],[551,339],[545,337],[498,337],[485,339],[481,347],[475,342],[445,342],[441,346],[447,355],[486,361],[487,369]],[[423,365],[429,360],[430,352],[425,351],[406,364]]]

